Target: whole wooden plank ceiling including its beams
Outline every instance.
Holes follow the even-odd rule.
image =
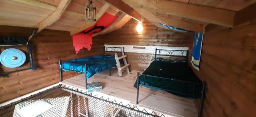
[[[104,12],[118,16],[105,34],[122,27],[131,18],[145,17],[159,23],[203,32],[212,23],[233,27],[255,18],[256,0],[94,0],[97,19]],[[69,31],[71,35],[95,24],[85,21],[86,0],[0,0],[0,25]],[[247,7],[247,8],[246,8]],[[250,14],[251,13],[251,14]],[[245,15],[247,14],[247,15]],[[241,18],[243,17],[243,18]]]

